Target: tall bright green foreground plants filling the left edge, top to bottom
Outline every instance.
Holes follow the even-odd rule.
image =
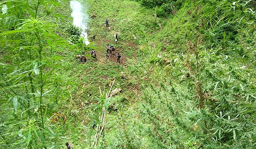
[[[52,97],[59,92],[61,80],[57,73],[53,73],[53,68],[58,67],[54,60],[61,58],[52,54],[55,48],[67,45],[55,34],[56,24],[42,20],[58,3],[38,0],[29,4],[25,1],[8,1],[6,4],[8,17],[2,15],[0,21],[4,31],[0,34],[3,43],[0,48],[3,62],[0,65],[0,92],[12,104],[5,103],[1,107],[1,139],[5,148],[47,148],[53,128],[48,119],[54,105]],[[9,31],[10,26],[13,26],[12,31]]]

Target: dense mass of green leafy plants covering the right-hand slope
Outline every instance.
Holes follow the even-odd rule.
[[[212,3],[217,7],[212,7]],[[252,125],[254,119],[245,114],[247,113],[245,111],[250,112],[253,109],[248,108],[250,106],[244,106],[244,103],[255,104],[251,103],[254,102],[254,98],[249,95],[255,92],[255,88],[252,87],[250,79],[248,81],[248,78],[242,77],[246,75],[245,73],[256,75],[251,69],[255,60],[250,58],[254,57],[254,48],[250,52],[241,48],[254,47],[255,44],[244,42],[250,40],[255,34],[251,32],[254,25],[249,23],[250,20],[255,20],[249,15],[253,9],[246,12],[248,13],[247,17],[241,12],[243,9],[243,12],[246,9],[250,10],[249,8],[253,7],[249,5],[249,2],[244,1],[235,4],[226,0],[209,3],[204,1],[199,4],[194,3],[194,5],[184,3],[183,8],[177,11],[177,16],[170,19],[170,23],[167,23],[164,29],[157,33],[158,37],[154,38],[155,44],[165,45],[164,54],[166,56],[163,59],[166,70],[160,71],[159,68],[155,68],[153,73],[157,75],[154,77],[158,76],[159,80],[164,80],[164,83],[157,83],[158,88],[145,83],[145,86],[148,86],[145,90],[147,95],[145,95],[145,99],[153,98],[148,100],[148,109],[156,108],[156,106],[156,109],[166,109],[160,107],[163,106],[161,103],[152,104],[154,101],[164,100],[165,93],[174,96],[167,99],[177,99],[172,102],[175,103],[178,117],[172,116],[174,120],[170,121],[177,123],[174,126],[182,127],[179,129],[180,132],[184,131],[184,134],[180,135],[175,132],[179,136],[178,138],[192,136],[192,134],[188,134],[195,132],[196,137],[193,141],[204,140],[201,143],[206,148],[224,149],[227,148],[225,146],[253,148],[255,146],[255,141],[252,143],[249,141],[250,137],[245,138],[245,136],[255,135],[253,129],[247,127],[247,123]],[[149,45],[149,47],[152,46]],[[160,47],[160,49],[162,48]],[[158,51],[160,49],[154,51],[160,54],[161,52]],[[150,52],[150,54],[152,57],[157,55],[154,52]],[[246,57],[246,55],[250,56]],[[168,79],[163,77],[167,75],[172,78],[171,85],[168,85]],[[244,86],[249,90],[246,91]],[[184,90],[185,88],[188,90]],[[148,95],[149,92],[152,92],[150,89],[154,89],[156,97]],[[169,90],[164,91],[165,89]],[[167,104],[167,101],[164,100],[163,103]],[[180,103],[183,104],[179,105]],[[202,104],[204,110],[197,111]],[[247,108],[244,109],[244,107]],[[180,112],[179,109],[183,109],[184,112]],[[181,116],[182,113],[183,116]],[[160,113],[156,115],[160,115]],[[199,129],[195,127],[195,123]],[[162,131],[162,128],[158,131]],[[171,136],[172,142],[178,141],[175,139],[175,135]],[[188,141],[186,138],[183,140]],[[220,144],[218,145],[218,143]],[[175,142],[175,144],[178,145],[179,142]],[[178,146],[189,148],[189,144],[193,144],[193,142],[188,142],[188,146],[186,144]]]

